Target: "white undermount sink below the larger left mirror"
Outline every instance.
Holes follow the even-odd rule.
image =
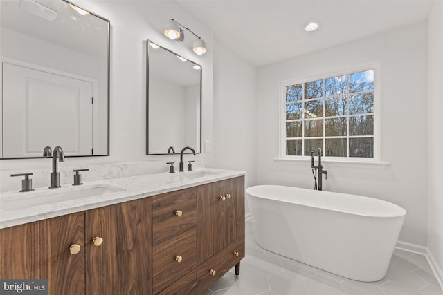
[[[107,184],[96,184],[94,186],[57,191],[48,190],[46,193],[33,193],[32,196],[19,196],[10,200],[0,200],[0,211],[16,210],[26,207],[34,207],[55,202],[68,200],[78,200],[95,196],[104,196],[118,191],[125,191],[120,187],[113,187]]]

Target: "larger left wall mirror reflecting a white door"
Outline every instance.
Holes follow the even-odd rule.
[[[64,0],[0,13],[0,158],[109,155],[109,21]]]

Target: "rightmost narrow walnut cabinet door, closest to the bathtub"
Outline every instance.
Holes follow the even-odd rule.
[[[224,245],[244,235],[244,176],[224,180]]]

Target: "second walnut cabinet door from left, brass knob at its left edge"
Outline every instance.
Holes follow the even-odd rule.
[[[87,295],[152,293],[151,204],[143,198],[86,211]]]

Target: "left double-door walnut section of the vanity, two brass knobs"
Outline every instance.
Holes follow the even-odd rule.
[[[53,295],[151,294],[151,243],[150,198],[7,227],[0,278],[48,279]]]

